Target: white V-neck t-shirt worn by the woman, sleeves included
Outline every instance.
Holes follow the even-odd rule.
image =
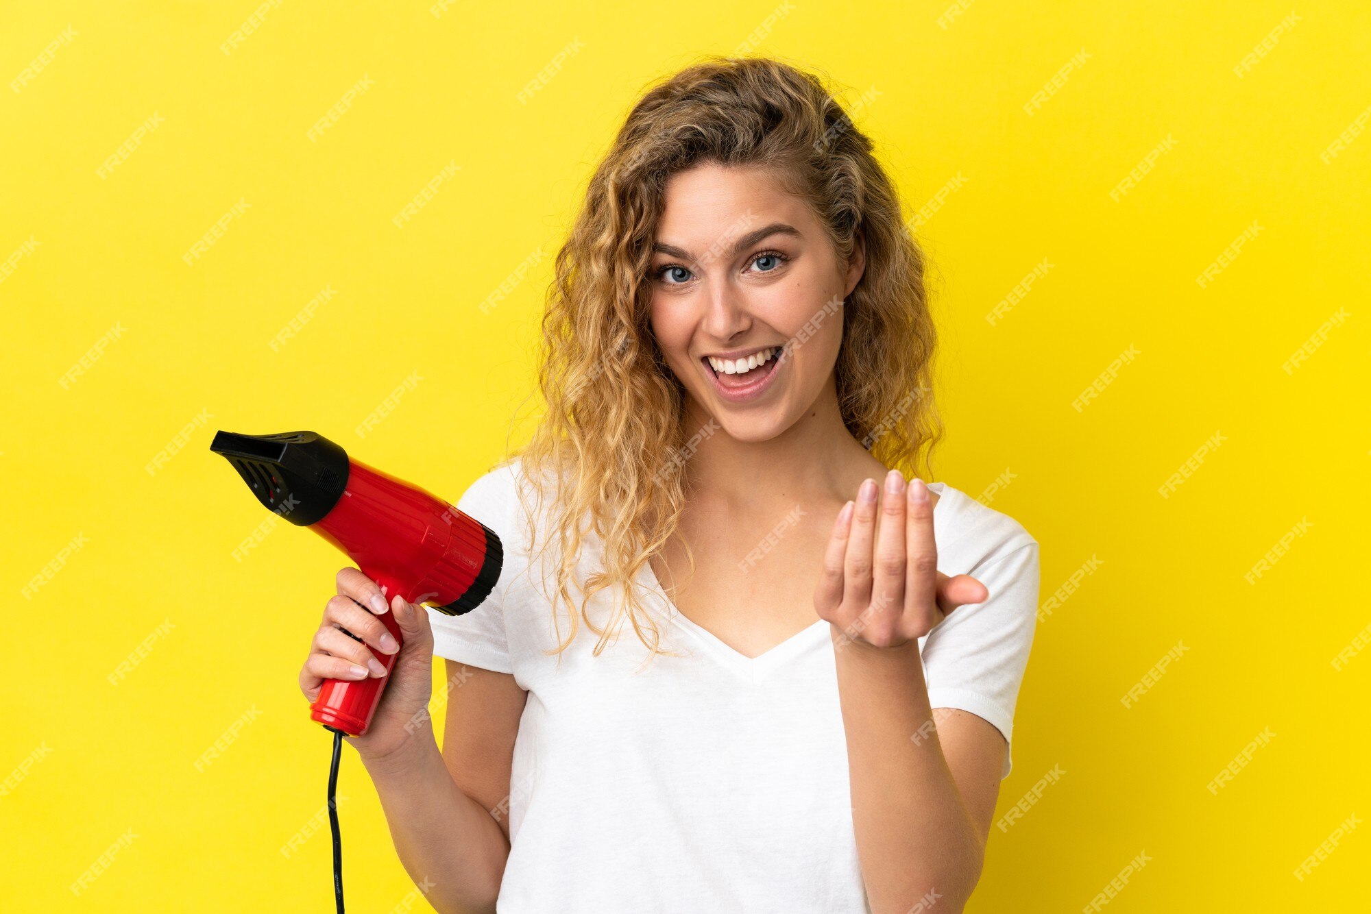
[[[647,565],[638,585],[662,647],[690,655],[643,666],[647,648],[625,621],[599,656],[581,625],[558,662],[543,654],[558,639],[540,573],[528,574],[520,467],[491,470],[457,504],[505,548],[491,596],[461,617],[429,610],[437,656],[511,673],[528,691],[499,914],[869,911],[831,623],[816,617],[749,659],[679,614]],[[962,492],[930,488],[941,496],[939,570],[973,574],[990,599],[920,640],[928,696],[1009,740],[1036,619],[1038,543]],[[600,549],[592,540],[581,567]],[[611,600],[609,591],[591,600],[598,623]],[[558,615],[565,634],[562,600]],[[1002,777],[1009,767],[1006,752]]]

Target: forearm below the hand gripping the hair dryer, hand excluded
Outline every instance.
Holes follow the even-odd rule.
[[[444,914],[495,910],[509,841],[452,780],[425,724],[395,758],[365,761],[395,851],[429,904]]]

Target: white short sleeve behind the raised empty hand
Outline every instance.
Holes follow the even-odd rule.
[[[1038,621],[1038,543],[1030,540],[967,574],[990,596],[953,610],[928,633],[923,647],[928,703],[984,718],[1012,745],[1015,704]],[[1001,780],[1012,767],[1010,745]]]

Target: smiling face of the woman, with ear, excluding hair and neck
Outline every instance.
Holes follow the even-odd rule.
[[[706,163],[672,175],[650,317],[692,421],[713,418],[739,441],[794,425],[832,381],[842,301],[861,271],[861,245],[839,262],[809,207],[768,171]]]

